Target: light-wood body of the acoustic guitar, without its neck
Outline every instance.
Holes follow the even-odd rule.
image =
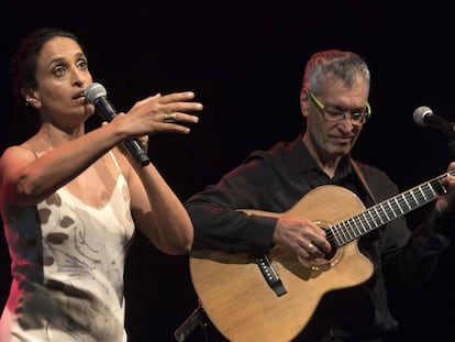
[[[322,186],[282,213],[242,211],[310,219],[325,228],[364,210],[349,190]],[[357,240],[340,247],[332,258],[312,264],[279,246],[268,256],[286,289],[281,296],[268,285],[255,257],[246,253],[195,250],[190,254],[195,290],[211,322],[230,341],[291,341],[304,329],[324,294],[359,285],[373,275],[373,264],[359,253]]]

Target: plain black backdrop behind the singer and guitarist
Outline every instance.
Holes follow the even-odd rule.
[[[176,194],[191,194],[236,166],[255,148],[292,140],[302,130],[299,91],[308,57],[323,48],[363,55],[371,71],[373,119],[354,157],[388,172],[402,190],[444,173],[451,153],[440,131],[412,113],[429,106],[455,121],[454,20],[448,2],[398,1],[2,1],[0,16],[1,151],[31,132],[18,118],[8,79],[20,37],[37,26],[74,31],[89,52],[96,81],[127,110],[155,92],[193,90],[204,104],[187,136],[149,141],[149,155]],[[100,124],[98,118],[89,126]],[[409,214],[417,222],[421,212]],[[10,284],[0,238],[0,300]],[[454,249],[418,291],[392,293],[400,340],[443,340],[452,332]],[[157,252],[142,235],[125,271],[131,341],[175,341],[175,329],[197,307],[187,257]],[[235,312],[233,312],[235,315]],[[253,328],[254,329],[254,328]],[[221,341],[209,324],[208,341]],[[187,341],[204,341],[198,328]]]

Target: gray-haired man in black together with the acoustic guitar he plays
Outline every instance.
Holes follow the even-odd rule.
[[[253,152],[186,202],[195,289],[228,340],[384,341],[398,329],[389,286],[422,284],[447,249],[455,163],[400,195],[351,157],[371,115],[369,87],[357,54],[315,53],[300,92],[304,132]],[[403,214],[423,205],[409,229]]]

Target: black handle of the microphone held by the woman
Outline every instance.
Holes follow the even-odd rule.
[[[111,120],[115,118],[116,110],[113,108],[112,103],[106,97],[98,98],[93,102],[93,104],[101,118],[106,121],[111,122]],[[147,152],[143,147],[140,140],[126,140],[122,143],[122,145],[127,151],[127,153],[134,158],[134,161],[140,163],[141,166],[146,166],[151,163]]]

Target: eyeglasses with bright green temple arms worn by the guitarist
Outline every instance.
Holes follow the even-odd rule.
[[[330,108],[322,103],[322,101],[318,99],[312,91],[307,90],[307,92],[310,96],[311,101],[319,109],[326,121],[341,122],[345,119],[349,119],[353,123],[362,124],[368,121],[368,119],[371,117],[371,107],[368,102],[366,103],[366,108],[358,108],[353,110],[341,107]]]

